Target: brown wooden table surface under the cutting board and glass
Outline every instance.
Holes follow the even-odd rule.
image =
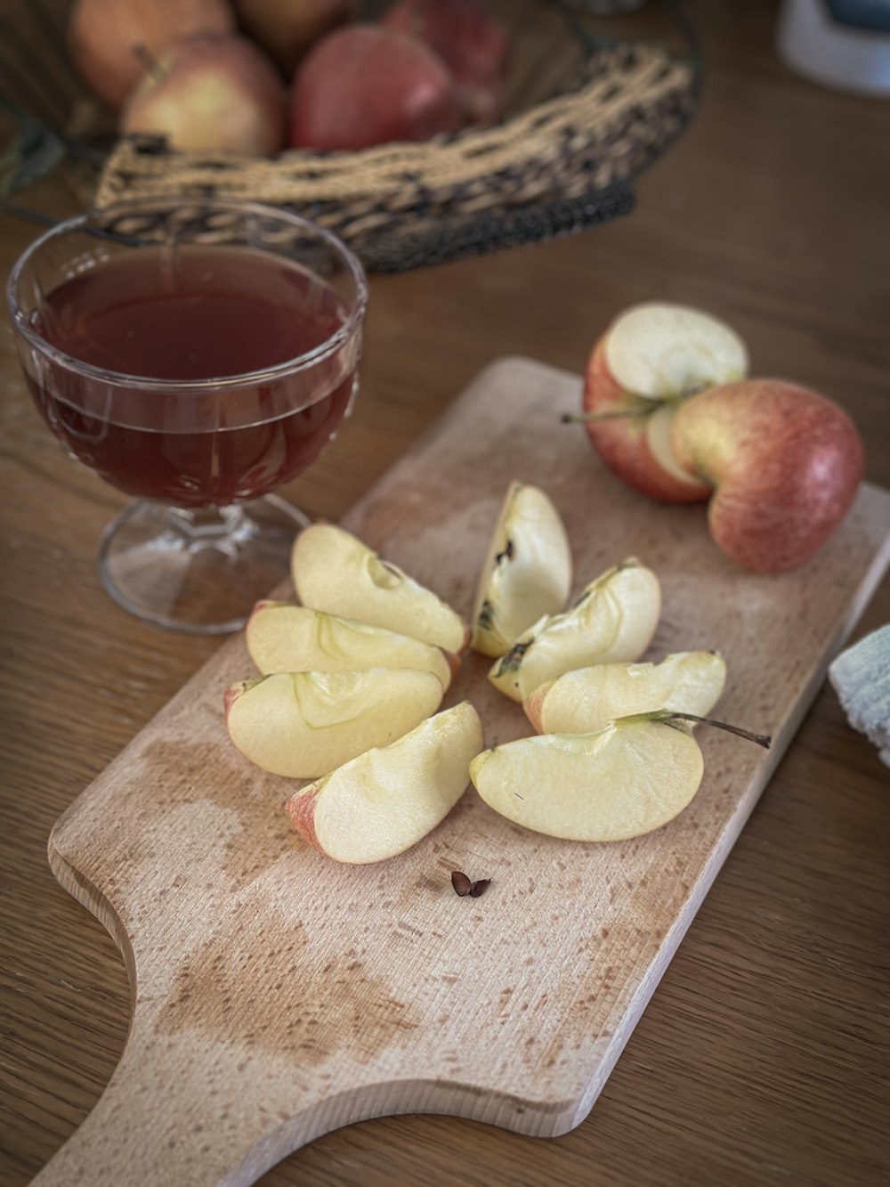
[[[310,514],[341,516],[488,362],[523,354],[580,370],[610,317],[653,297],[725,316],[757,372],[843,404],[867,477],[890,487],[890,106],[789,75],[765,0],[686,7],[708,61],[701,112],[640,182],[629,218],[371,279],[355,417],[285,491]],[[14,21],[24,6],[0,12]],[[657,17],[637,21],[644,32]],[[19,197],[57,216],[82,201],[58,177]],[[4,272],[32,235],[0,216]],[[119,953],[53,880],[47,833],[218,645],[109,602],[94,560],[123,499],[47,433],[6,323],[0,373],[0,1181],[13,1185],[95,1104],[127,1032]],[[885,582],[853,637],[888,620]],[[886,768],[826,685],[577,1130],[538,1141],[445,1117],[374,1121],[262,1182],[885,1182],[889,838]]]

